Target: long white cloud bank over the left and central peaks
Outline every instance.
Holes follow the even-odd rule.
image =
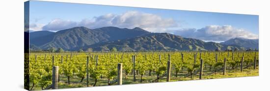
[[[120,15],[106,14],[93,17],[92,19],[83,19],[80,22],[54,19],[42,29],[57,31],[80,26],[90,29],[108,26],[130,29],[139,27],[151,32],[162,32],[166,30],[166,28],[177,27],[178,25],[173,19],[163,19],[159,15],[128,11]]]

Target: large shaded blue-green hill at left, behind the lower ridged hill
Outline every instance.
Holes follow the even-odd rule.
[[[91,30],[85,27],[75,27],[30,39],[30,44],[41,49],[54,47],[70,50],[99,42],[132,38],[146,33],[150,32],[140,28],[120,29],[117,27],[103,27]],[[30,37],[33,36],[30,34]]]

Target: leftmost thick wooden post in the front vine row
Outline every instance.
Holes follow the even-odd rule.
[[[58,66],[53,66],[52,89],[58,89]]]

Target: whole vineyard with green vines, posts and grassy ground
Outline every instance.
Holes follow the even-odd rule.
[[[30,53],[28,74],[30,90],[46,90],[55,83],[63,89],[258,76],[258,68],[259,53],[251,51]]]

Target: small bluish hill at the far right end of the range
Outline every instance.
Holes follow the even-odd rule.
[[[225,42],[221,42],[223,45],[241,46],[244,48],[259,49],[259,39],[244,39],[244,38],[232,38]]]

